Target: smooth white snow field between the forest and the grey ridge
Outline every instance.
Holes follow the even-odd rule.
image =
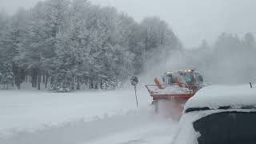
[[[140,108],[150,96],[138,90]],[[90,122],[138,110],[133,90],[50,93],[38,90],[0,90],[0,138],[66,122]]]

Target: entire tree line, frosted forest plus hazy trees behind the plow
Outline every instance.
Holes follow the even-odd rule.
[[[170,70],[195,68],[215,83],[249,82],[256,80],[255,54],[251,33],[242,38],[223,33],[212,46],[202,41],[184,49],[160,18],[135,22],[114,7],[85,0],[47,0],[13,15],[0,12],[4,89],[30,82],[38,90],[43,84],[56,92],[81,86],[113,90],[168,57],[173,57]]]

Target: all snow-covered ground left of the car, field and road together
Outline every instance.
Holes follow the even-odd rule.
[[[0,90],[1,144],[169,143],[177,122],[159,118],[145,89],[67,94]]]

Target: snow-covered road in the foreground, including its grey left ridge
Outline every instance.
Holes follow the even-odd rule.
[[[135,144],[170,143],[176,123],[141,114],[114,116],[93,122],[70,122],[0,139],[5,144]]]

